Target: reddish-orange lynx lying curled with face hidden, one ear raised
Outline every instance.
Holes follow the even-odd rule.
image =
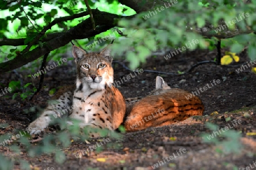
[[[191,93],[171,88],[160,76],[156,77],[156,90],[127,108],[126,131],[166,126],[188,117],[202,115],[204,105],[197,96],[187,100]]]

